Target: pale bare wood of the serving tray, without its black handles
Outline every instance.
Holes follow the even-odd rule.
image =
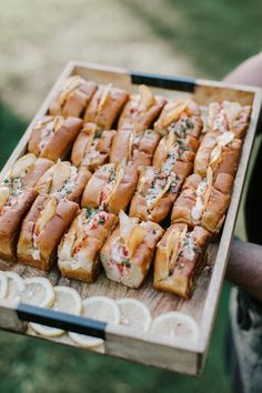
[[[27,142],[30,137],[32,125],[47,112],[50,99],[54,91],[57,91],[61,81],[70,74],[80,74],[87,79],[91,79],[100,83],[112,82],[114,85],[125,88],[129,91],[137,91],[138,89],[137,85],[131,83],[130,74],[125,70],[108,70],[107,68],[100,66],[70,63],[29,125],[17,149],[13,151],[10,160],[0,174],[0,179],[4,178],[10,169],[10,165],[26,152]],[[164,337],[155,341],[155,337],[150,337],[148,334],[141,334],[141,332],[132,331],[125,326],[108,325],[105,353],[133,361],[140,361],[145,364],[163,366],[169,370],[196,374],[203,365],[204,353],[208,349],[212,332],[212,325],[223,283],[231,238],[233,235],[234,223],[240,204],[251,148],[254,140],[262,98],[261,91],[256,89],[246,87],[234,88],[232,85],[225,85],[223,83],[211,81],[196,81],[196,87],[193,93],[177,92],[173,90],[163,90],[159,88],[153,88],[153,91],[164,94],[165,97],[191,97],[201,105],[206,105],[209,102],[218,99],[238,100],[242,104],[253,105],[251,123],[246,133],[232,195],[232,202],[225,220],[221,241],[218,240],[216,243],[209,246],[206,253],[208,268],[205,268],[199,276],[193,296],[185,301],[173,294],[155,291],[152,288],[152,273],[149,274],[145,283],[140,290],[132,290],[122,284],[107,280],[103,273],[100,274],[99,280],[95,283],[87,284],[60,276],[57,268],[53,268],[47,273],[19,263],[10,264],[4,261],[0,261],[0,270],[13,270],[22,278],[34,275],[47,276],[53,285],[68,285],[74,288],[80,293],[82,299],[92,295],[107,295],[112,299],[139,299],[148,305],[153,318],[158,316],[160,313],[169,311],[181,311],[191,315],[196,321],[201,333],[200,340],[195,343],[195,345],[191,345],[184,341],[173,341]],[[30,329],[27,331],[27,334],[36,335],[36,333],[33,333]],[[62,342],[69,345],[72,344],[67,336],[56,339],[56,342]]]

